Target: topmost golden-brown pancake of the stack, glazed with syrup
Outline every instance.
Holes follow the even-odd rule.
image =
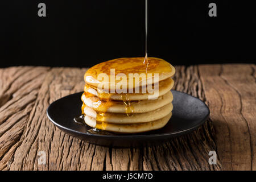
[[[117,88],[118,81],[116,81],[115,78],[120,73],[126,76],[126,88],[133,89],[136,86],[147,85],[147,80],[150,78],[152,78],[152,83],[155,83],[166,80],[167,78],[172,77],[175,73],[175,68],[163,59],[148,57],[148,64],[143,64],[143,61],[144,57],[125,57],[105,61],[88,69],[84,75],[84,80],[86,84],[92,85],[96,88],[98,88],[98,85],[102,84],[102,82],[108,85],[108,88],[111,86]],[[114,69],[114,73],[111,72],[110,69]],[[103,75],[102,73],[108,76],[107,80],[102,80],[102,78],[99,77],[100,75]],[[139,81],[133,81],[129,83],[129,74],[134,73],[138,73],[138,75],[134,75],[134,78],[135,80],[138,79]],[[145,77],[140,77],[142,73],[145,74]],[[157,80],[154,79],[156,77],[156,73],[159,74],[159,79]],[[111,78],[110,75],[114,76],[113,80],[113,77]]]

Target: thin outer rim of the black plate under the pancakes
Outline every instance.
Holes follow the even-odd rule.
[[[82,94],[83,92],[77,92],[77,93],[73,93],[73,94],[69,94],[68,96],[65,96],[65,97],[61,97],[55,101],[53,101],[51,104],[49,104],[49,106],[47,107],[47,110],[46,110],[46,114],[47,114],[47,117],[48,119],[57,127],[59,127],[60,129],[64,129],[64,130],[68,130],[69,132],[72,132],[74,134],[80,134],[80,135],[84,135],[85,137],[86,136],[89,136],[89,137],[100,137],[100,138],[127,138],[127,139],[134,139],[134,138],[148,138],[148,137],[164,137],[164,136],[172,136],[172,135],[179,135],[180,133],[188,133],[188,132],[192,132],[193,130],[196,130],[197,128],[199,128],[201,125],[203,125],[205,123],[205,121],[207,121],[209,115],[210,115],[210,109],[209,107],[207,106],[207,104],[205,104],[204,101],[200,100],[200,98],[197,98],[195,96],[191,96],[190,94],[187,94],[187,93],[184,93],[184,92],[180,92],[180,91],[177,91],[177,90],[171,90],[171,92],[178,92],[178,93],[181,93],[181,94],[185,94],[187,96],[190,96],[190,97],[193,97],[193,98],[196,98],[197,100],[199,100],[200,102],[202,102],[204,104],[204,106],[207,108],[207,115],[205,115],[204,119],[201,120],[201,122],[197,123],[197,125],[189,128],[189,129],[186,129],[186,130],[181,130],[181,131],[176,131],[176,132],[172,132],[172,133],[162,133],[162,134],[141,134],[141,135],[100,135],[100,134],[90,134],[90,133],[83,133],[81,131],[76,131],[76,130],[73,130],[73,129],[69,129],[68,127],[65,127],[65,126],[62,126],[62,125],[59,125],[59,123],[56,123],[55,121],[53,121],[53,119],[49,116],[49,113],[48,113],[48,110],[49,108],[51,107],[52,104],[54,104],[55,102],[59,101],[60,99],[63,99],[63,98],[67,98],[67,97],[70,97],[72,95],[75,95],[75,94]]]

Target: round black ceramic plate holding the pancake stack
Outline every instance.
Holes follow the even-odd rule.
[[[53,102],[47,109],[51,122],[66,133],[102,146],[131,147],[159,144],[172,137],[187,134],[202,125],[209,116],[207,105],[196,97],[172,90],[174,110],[170,121],[162,129],[140,134],[92,134],[87,125],[73,121],[81,114],[81,95],[75,93]]]

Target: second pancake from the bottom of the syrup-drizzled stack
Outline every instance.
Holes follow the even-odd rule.
[[[144,123],[155,121],[157,119],[165,117],[172,111],[172,103],[169,103],[159,109],[139,114],[119,114],[119,113],[97,113],[92,108],[86,106],[84,109],[85,115],[88,115],[91,118],[96,119],[100,122],[107,123],[119,123],[119,124],[130,124],[130,123]]]

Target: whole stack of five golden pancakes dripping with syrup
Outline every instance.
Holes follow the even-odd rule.
[[[105,61],[88,69],[84,76],[86,84],[81,97],[82,114],[87,125],[116,133],[141,133],[160,129],[167,124],[172,115],[173,96],[170,90],[174,86],[171,77],[175,73],[175,68],[158,58],[148,57],[146,64],[143,60],[144,57],[120,58]],[[114,75],[110,69],[115,69]],[[117,76],[118,73],[125,75],[127,92],[120,93],[116,87],[114,91],[110,90],[117,86],[118,81],[113,82],[110,78],[100,80],[100,73],[105,73],[109,77]],[[131,83],[128,80],[129,73],[145,73],[146,79],[151,79],[153,89],[158,85],[158,94],[148,90],[142,92],[149,82],[142,79],[136,82],[134,79]],[[158,79],[154,79],[156,73]],[[108,86],[102,89],[99,87],[100,84]],[[139,93],[129,93],[131,87],[133,91],[138,88]]]

